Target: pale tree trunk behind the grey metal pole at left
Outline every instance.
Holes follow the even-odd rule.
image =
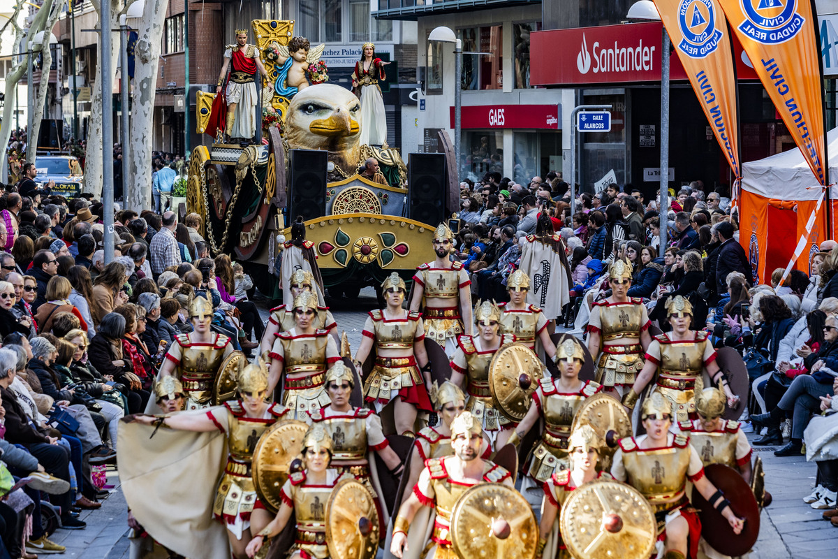
[[[108,0],[106,0],[107,2]],[[99,16],[99,27],[101,24],[101,4],[98,0],[93,0],[93,8],[96,9],[96,14]],[[122,9],[122,2],[120,0],[111,0],[111,29],[119,27],[119,13]],[[111,60],[118,60],[119,56],[119,41],[111,41]],[[101,43],[96,41],[96,60],[101,60]],[[116,67],[116,65],[112,65]],[[113,93],[113,81],[116,79],[116,72],[106,76],[105,91],[107,95]],[[101,65],[96,65],[96,75],[94,76],[93,91],[91,91],[91,120],[87,129],[87,146],[85,149],[85,192],[90,192],[97,199],[101,199],[102,195],[102,164],[113,164],[113,158],[109,158],[106,162],[102,161],[102,80],[101,80]]]

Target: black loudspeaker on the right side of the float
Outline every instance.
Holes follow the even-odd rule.
[[[434,227],[445,220],[445,154],[411,153],[407,159],[410,217]]]

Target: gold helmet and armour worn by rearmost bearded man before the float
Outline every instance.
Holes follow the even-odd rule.
[[[454,240],[454,236],[448,226],[440,224],[433,233],[433,238],[439,240]],[[422,286],[426,298],[449,299],[451,305],[448,307],[425,306],[422,318],[424,319],[425,335],[435,339],[442,347],[445,347],[447,339],[454,339],[463,334],[463,317],[460,316],[459,293],[462,287],[468,287],[471,282],[461,280],[463,262],[453,262],[450,268],[432,267],[431,263],[424,263],[416,267],[416,274],[413,281]]]

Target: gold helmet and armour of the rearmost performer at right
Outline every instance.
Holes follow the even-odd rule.
[[[622,260],[615,261],[608,268],[610,279],[631,279],[632,266]],[[644,350],[640,344],[640,333],[651,323],[643,300],[629,298],[628,301],[610,303],[608,299],[593,303],[588,332],[602,336],[602,351],[597,362],[597,382],[608,390],[615,386],[634,386],[644,365]],[[634,344],[621,344],[623,339],[637,339]]]

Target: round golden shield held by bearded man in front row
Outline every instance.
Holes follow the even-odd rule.
[[[463,559],[533,559],[538,522],[530,503],[503,484],[477,484],[451,511],[451,544]]]

